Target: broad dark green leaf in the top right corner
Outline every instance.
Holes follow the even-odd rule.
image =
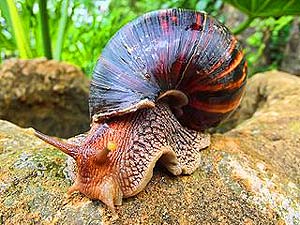
[[[299,0],[225,0],[249,17],[300,15]]]

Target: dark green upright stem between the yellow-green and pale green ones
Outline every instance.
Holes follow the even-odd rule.
[[[47,0],[39,0],[39,9],[40,9],[44,56],[47,59],[52,59],[51,39],[50,39],[49,25],[48,25]]]

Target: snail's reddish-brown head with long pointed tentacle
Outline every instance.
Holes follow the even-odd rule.
[[[119,178],[114,172],[111,153],[118,149],[113,140],[113,129],[106,123],[94,123],[86,138],[79,144],[47,136],[39,131],[35,135],[57,147],[76,161],[77,177],[68,193],[79,191],[89,198],[100,199],[112,210],[122,203]]]

